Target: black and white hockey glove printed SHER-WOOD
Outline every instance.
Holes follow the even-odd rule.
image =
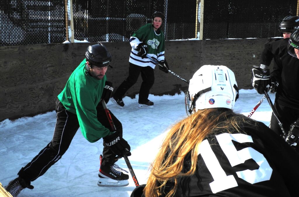
[[[264,91],[268,92],[271,87],[270,70],[264,70],[257,66],[253,67],[254,68],[252,68],[251,78],[252,86],[257,90],[259,94],[264,94]]]

